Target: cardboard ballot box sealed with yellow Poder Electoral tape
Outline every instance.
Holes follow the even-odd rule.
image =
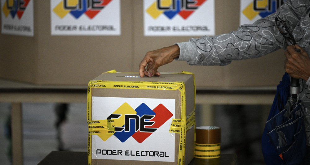
[[[186,115],[185,114],[184,115],[189,116],[193,112],[194,105],[195,105],[194,103],[195,87],[194,87],[194,80],[193,80],[192,74],[162,74],[160,77],[153,77],[153,78],[139,78],[139,77],[138,78],[127,78],[125,76],[137,76],[137,73],[104,73],[90,82],[90,84],[93,85],[93,87],[89,89],[90,94],[88,95],[88,97],[91,97],[91,99],[88,98],[88,100],[91,101],[91,103],[89,103],[89,106],[91,107],[91,113],[89,114],[89,116],[91,119],[88,119],[88,120],[90,121],[105,120],[106,114],[104,111],[107,111],[109,114],[110,112],[113,112],[114,109],[117,109],[115,112],[113,112],[113,114],[123,113],[122,111],[124,111],[124,109],[121,108],[125,104],[125,103],[123,104],[123,102],[126,102],[126,104],[128,104],[131,108],[133,108],[132,110],[134,110],[135,107],[137,107],[137,105],[141,103],[142,104],[145,103],[145,105],[148,106],[151,110],[153,109],[153,111],[156,111],[155,109],[157,107],[155,109],[154,107],[157,106],[157,104],[162,104],[164,107],[167,108],[168,111],[170,111],[170,109],[173,109],[174,107],[175,110],[174,112],[172,112],[174,116],[169,117],[167,121],[164,121],[162,128],[166,126],[170,127],[170,124],[173,118],[181,119],[182,106],[184,106],[185,104],[182,103],[182,99],[184,98],[179,88],[176,90],[163,90],[163,89],[154,90],[152,88],[147,89],[147,88],[142,87],[143,86],[141,85],[142,82],[148,83],[148,84],[155,84],[157,85],[157,87],[168,87],[169,85],[175,82],[184,83],[185,93],[186,93],[185,94],[186,95]],[[126,85],[126,83],[131,83],[131,84]],[[95,86],[96,84],[99,84],[99,85]],[[125,87],[120,84],[125,84],[124,85]],[[132,84],[137,84],[137,85],[132,85]],[[130,89],[126,89],[126,88],[130,88]],[[171,101],[172,101],[172,104],[171,104]],[[111,108],[114,106],[114,104],[116,104],[115,107]],[[131,114],[130,112],[132,112],[130,111],[131,109],[130,107],[125,108],[126,111],[129,112],[128,114]],[[102,110],[100,110],[100,108],[102,108]],[[119,109],[121,109],[122,111],[118,111]],[[157,111],[155,117],[157,115],[160,115],[162,112],[163,112],[162,110]],[[137,111],[137,114],[138,113],[139,111]],[[160,117],[160,118],[162,119],[163,117]],[[114,122],[119,122],[119,121],[116,121],[117,119],[113,119]],[[154,125],[156,125],[157,122],[158,121],[156,121]],[[125,122],[125,125],[126,125],[126,122]],[[125,125],[124,127],[126,128]],[[115,123],[114,128],[117,128],[117,127],[119,126],[117,126],[117,124]],[[157,127],[154,127],[154,128],[157,128]],[[122,139],[120,138],[126,136],[122,134],[122,137],[118,137],[117,133],[119,132],[114,133],[113,135],[108,137],[106,140],[102,139],[101,135],[91,135],[91,149],[92,149],[91,150],[91,153],[92,153],[91,164],[101,164],[101,163],[109,163],[109,164],[145,163],[145,164],[167,164],[167,165],[178,164],[180,134],[179,133],[168,133],[169,128],[167,130],[166,129],[162,130],[162,128],[161,126],[159,126],[156,130],[157,132],[155,131],[151,133],[142,142],[139,142],[139,141],[137,142],[134,140],[134,138],[136,139],[136,137],[134,136],[135,134],[131,135],[131,137],[124,140],[124,142],[118,141],[118,140],[122,141]],[[124,133],[124,132],[121,132],[121,133]],[[166,135],[164,134],[168,135],[167,139],[166,139]],[[142,134],[142,136],[144,136],[144,134]],[[98,137],[100,137],[101,139]],[[117,137],[118,140],[115,137]],[[164,139],[161,139],[161,138],[164,138]],[[174,146],[174,148],[168,148],[168,146],[171,146],[170,145],[171,143],[167,143],[167,142],[170,142],[171,140],[174,143],[172,145]],[[105,143],[105,142],[108,142],[108,143]],[[165,143],[167,144],[165,145]],[[135,147],[138,147],[138,149],[131,150],[131,148],[135,148]],[[98,154],[98,149],[100,150],[99,152],[101,151],[105,152],[104,156],[100,155],[100,153]],[[122,154],[117,155],[115,151],[114,156],[112,154],[107,155],[106,154],[108,152],[106,151],[107,149],[117,150],[118,152]],[[148,157],[143,158],[141,155],[142,153],[145,154],[145,151],[150,151],[150,153],[153,152],[152,150],[149,150],[149,149],[153,149],[154,152],[162,151],[161,152],[162,155],[168,155],[168,156],[173,155],[171,154],[171,152],[169,152],[172,149],[174,151],[174,157],[161,158],[158,155],[157,157],[149,155]],[[193,151],[194,151],[194,125],[190,129],[188,129],[188,131],[186,132],[186,147],[185,147],[185,153],[184,153],[185,154],[184,164],[188,164],[193,159]],[[126,153],[126,156],[124,155],[125,153]],[[100,159],[95,159],[97,157]],[[102,159],[103,157],[104,159]],[[139,161],[137,161],[136,159],[138,159]],[[169,161],[166,161],[166,160],[169,160]]]

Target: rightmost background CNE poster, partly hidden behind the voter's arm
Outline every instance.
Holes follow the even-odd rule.
[[[286,0],[241,0],[240,25],[252,24],[256,20],[277,11]]]

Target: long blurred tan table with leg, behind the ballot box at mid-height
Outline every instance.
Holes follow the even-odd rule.
[[[276,87],[204,87],[196,104],[272,104]],[[13,165],[23,164],[22,109],[24,102],[86,103],[87,85],[35,85],[0,79],[0,102],[11,103]]]

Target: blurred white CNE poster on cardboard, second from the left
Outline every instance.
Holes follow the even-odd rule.
[[[51,0],[51,35],[121,35],[120,0]]]

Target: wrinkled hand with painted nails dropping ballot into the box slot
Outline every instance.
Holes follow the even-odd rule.
[[[175,58],[179,57],[179,54],[180,49],[178,45],[172,45],[146,53],[139,64],[140,77],[144,77],[144,75],[148,77],[152,77],[153,75],[160,76],[160,73],[157,71],[158,67],[172,62]]]

